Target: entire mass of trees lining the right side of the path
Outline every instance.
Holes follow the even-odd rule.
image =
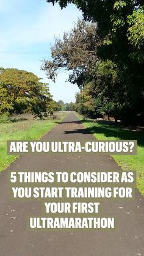
[[[144,123],[144,1],[47,0],[69,3],[82,11],[63,39],[56,38],[52,60],[42,70],[55,81],[68,70],[69,81],[81,89],[76,109],[89,117],[107,114],[124,123]]]

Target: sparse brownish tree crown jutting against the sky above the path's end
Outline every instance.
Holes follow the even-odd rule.
[[[65,68],[72,71],[68,79],[70,82],[84,86],[87,70],[92,69],[98,58],[98,40],[97,25],[78,20],[70,32],[63,34],[63,40],[56,38],[51,48],[52,60],[44,60],[41,69],[46,71],[49,79],[55,81],[57,71]]]

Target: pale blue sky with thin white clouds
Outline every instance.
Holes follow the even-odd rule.
[[[60,71],[54,84],[40,67],[50,57],[54,35],[62,37],[81,16],[72,4],[61,10],[46,0],[0,0],[0,67],[31,71],[49,84],[54,100],[74,102],[79,89],[65,82],[68,73]]]

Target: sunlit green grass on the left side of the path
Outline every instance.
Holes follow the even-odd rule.
[[[57,125],[67,113],[57,112],[52,120],[23,120],[14,123],[0,123],[0,172],[10,166],[18,156],[7,155],[7,140],[38,140]]]

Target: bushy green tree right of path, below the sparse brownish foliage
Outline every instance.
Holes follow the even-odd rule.
[[[107,113],[108,117],[112,115],[117,120],[121,97],[124,97],[122,90],[114,89],[118,83],[117,66],[110,60],[99,61],[94,73],[96,79],[86,84],[84,90],[76,95],[77,111],[92,118],[103,117]]]

